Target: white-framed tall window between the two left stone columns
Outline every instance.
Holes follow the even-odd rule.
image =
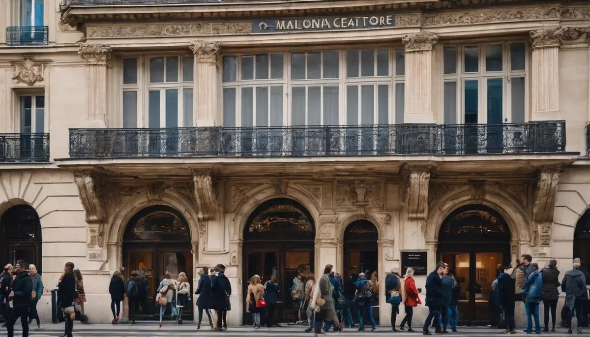
[[[122,65],[123,127],[193,125],[192,56],[124,58]]]

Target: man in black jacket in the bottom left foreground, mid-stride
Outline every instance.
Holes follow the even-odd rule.
[[[14,337],[14,323],[21,318],[22,337],[29,335],[29,306],[31,304],[31,292],[33,290],[32,278],[27,269],[27,263],[23,260],[18,260],[15,271],[17,277],[12,285],[12,293],[8,298],[12,300],[12,312],[6,321],[6,330],[8,337]]]

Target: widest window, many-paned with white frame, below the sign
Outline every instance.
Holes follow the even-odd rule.
[[[404,50],[330,50],[223,59],[223,125],[403,122]]]

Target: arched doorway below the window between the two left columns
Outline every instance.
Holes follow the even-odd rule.
[[[178,279],[178,274],[185,272],[189,282],[193,279],[191,231],[186,219],[168,206],[151,206],[137,212],[125,228],[123,261],[125,279],[137,270],[148,279],[151,289],[148,308],[143,312],[140,309],[137,318],[155,319],[155,295],[164,274],[168,272]],[[192,306],[184,307],[182,318],[192,319]]]

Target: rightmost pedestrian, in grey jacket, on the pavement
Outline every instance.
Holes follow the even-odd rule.
[[[584,325],[584,307],[588,300],[588,291],[586,290],[586,277],[580,270],[580,266],[580,259],[573,259],[573,269],[565,273],[561,284],[561,290],[565,292],[565,306],[569,309],[568,333],[572,333],[574,312],[578,320],[578,334],[582,333],[582,325]]]

